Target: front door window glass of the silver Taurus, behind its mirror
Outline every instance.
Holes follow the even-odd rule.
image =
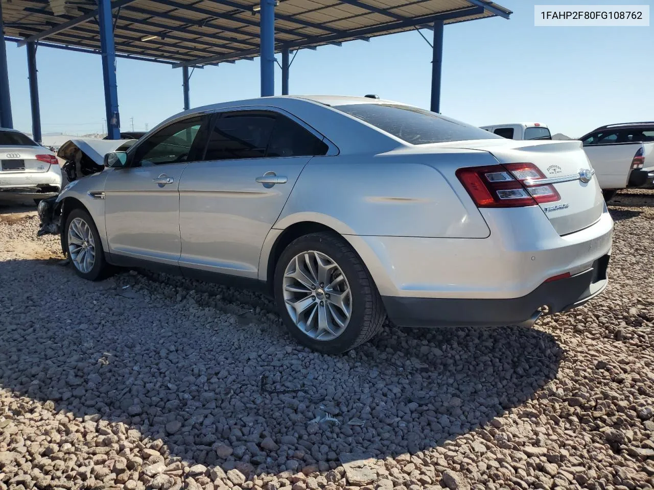
[[[136,148],[131,165],[165,165],[196,159],[193,143],[206,119],[207,116],[194,116],[163,127]]]

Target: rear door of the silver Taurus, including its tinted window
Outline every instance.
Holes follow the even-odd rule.
[[[267,233],[300,172],[328,150],[292,116],[268,110],[216,114],[201,162],[179,185],[180,265],[256,278]]]

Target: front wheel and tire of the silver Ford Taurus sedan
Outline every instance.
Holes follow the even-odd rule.
[[[99,280],[107,272],[107,263],[97,228],[88,212],[75,209],[68,215],[65,227],[65,250],[77,275]]]

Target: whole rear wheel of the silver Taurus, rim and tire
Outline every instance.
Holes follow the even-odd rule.
[[[366,342],[386,316],[360,258],[328,233],[305,235],[284,250],[275,272],[275,297],[288,331],[325,353]]]

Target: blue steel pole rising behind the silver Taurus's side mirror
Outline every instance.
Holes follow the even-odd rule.
[[[100,27],[100,51],[102,74],[105,82],[105,110],[107,112],[107,136],[120,139],[120,115],[118,114],[118,85],[116,84],[116,46],[111,14],[111,0],[98,0],[98,24]]]

